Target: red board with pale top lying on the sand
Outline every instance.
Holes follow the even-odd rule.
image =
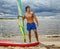
[[[13,42],[11,40],[0,40],[0,46],[13,46],[13,47],[33,47],[40,44],[40,42],[32,42],[32,43],[20,43],[20,42]]]

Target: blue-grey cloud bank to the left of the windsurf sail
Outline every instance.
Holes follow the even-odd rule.
[[[0,0],[0,13],[5,13],[5,14],[17,14],[17,7],[16,7],[16,0]]]

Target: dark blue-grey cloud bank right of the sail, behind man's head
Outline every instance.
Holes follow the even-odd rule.
[[[60,1],[58,0],[27,0],[22,2],[23,7],[30,5],[31,10],[34,12],[60,12]]]

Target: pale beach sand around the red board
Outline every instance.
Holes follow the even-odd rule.
[[[27,37],[27,42],[28,42],[28,36]],[[0,36],[0,40],[12,40],[16,42],[23,42],[22,36]],[[32,36],[32,42],[35,41],[34,36]],[[4,47],[0,46],[0,49],[60,49],[60,37],[48,37],[48,35],[39,35],[39,41],[40,45],[35,46],[35,47]]]

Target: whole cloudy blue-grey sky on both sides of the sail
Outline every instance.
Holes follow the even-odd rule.
[[[29,5],[37,16],[60,18],[60,0],[22,0],[23,10]],[[0,0],[0,17],[17,17],[16,0]]]

